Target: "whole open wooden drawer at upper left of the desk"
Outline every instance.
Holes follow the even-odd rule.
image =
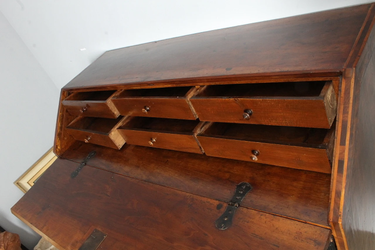
[[[111,101],[115,93],[115,90],[75,92],[63,101],[63,105],[73,116],[117,118],[120,113]]]

